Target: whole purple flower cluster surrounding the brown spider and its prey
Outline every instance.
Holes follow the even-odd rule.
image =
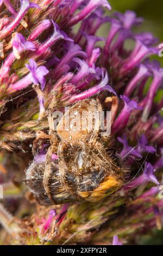
[[[160,229],[163,100],[157,96],[163,69],[151,60],[158,54],[158,40],[151,33],[133,32],[143,19],[133,11],[112,13],[107,0],[2,0],[0,8],[0,182],[4,206],[10,202],[9,210],[21,216],[11,223],[12,216],[0,205],[0,222],[23,244],[31,244],[33,237],[35,244],[121,245],[118,237],[130,243],[136,235]],[[97,36],[104,24],[110,25],[105,38]],[[62,111],[90,97],[111,109],[109,146],[130,170],[126,184],[117,199],[112,195],[95,204],[40,210],[28,192],[27,203],[26,188],[20,181],[15,185],[13,177],[22,178],[41,133],[47,144],[40,145],[43,153],[36,161],[45,161],[48,109]],[[24,213],[30,215],[25,221]],[[8,236],[2,237],[6,243]]]

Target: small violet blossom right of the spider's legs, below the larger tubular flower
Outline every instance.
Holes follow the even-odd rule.
[[[137,157],[142,158],[142,155],[139,153],[139,151],[137,151],[136,148],[132,148],[129,146],[126,135],[123,135],[123,138],[118,137],[117,139],[123,144],[123,149],[120,153],[122,159],[125,159],[129,156],[133,156],[135,159],[137,159]]]

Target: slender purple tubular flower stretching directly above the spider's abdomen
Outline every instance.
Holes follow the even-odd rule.
[[[103,78],[102,78],[101,83],[99,83],[97,86],[94,86],[94,87],[88,89],[85,92],[79,93],[77,95],[73,95],[71,97],[71,99],[69,100],[69,102],[73,103],[76,101],[84,100],[87,97],[91,97],[99,92],[102,92],[103,90],[108,90],[110,93],[113,93],[116,95],[115,90],[111,86],[108,85],[108,81],[109,81],[108,74],[105,71],[105,74],[103,72]]]

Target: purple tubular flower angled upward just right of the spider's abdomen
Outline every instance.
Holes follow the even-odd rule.
[[[127,125],[131,112],[134,109],[139,109],[136,101],[130,101],[130,99],[125,95],[121,96],[121,99],[124,101],[124,107],[117,119],[114,121],[112,126],[113,133],[121,131]]]

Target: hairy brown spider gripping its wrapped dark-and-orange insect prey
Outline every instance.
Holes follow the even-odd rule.
[[[80,101],[60,119],[57,132],[49,111],[51,146],[46,162],[33,162],[27,170],[26,184],[39,203],[93,202],[123,185],[126,171],[103,145],[101,111],[98,100]],[[91,126],[90,113],[95,114],[91,116]],[[56,152],[58,160],[53,161],[52,154]]]

